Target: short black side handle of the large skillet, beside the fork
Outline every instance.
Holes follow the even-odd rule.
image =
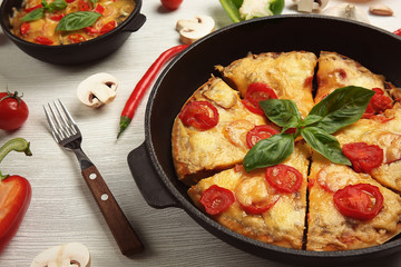
[[[128,154],[128,166],[146,202],[154,208],[178,207],[155,171],[146,144]]]

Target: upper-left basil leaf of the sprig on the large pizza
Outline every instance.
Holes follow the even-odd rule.
[[[280,127],[283,131],[288,128],[297,128],[302,121],[300,111],[294,101],[288,99],[268,99],[260,102],[266,117]]]

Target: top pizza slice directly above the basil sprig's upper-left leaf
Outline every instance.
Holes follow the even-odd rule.
[[[261,82],[267,85],[280,99],[292,99],[301,116],[306,117],[314,106],[312,81],[317,58],[312,52],[250,53],[227,67],[217,66],[229,86],[246,98],[248,87]]]

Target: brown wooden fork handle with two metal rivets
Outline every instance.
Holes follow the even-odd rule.
[[[82,176],[99,206],[121,254],[131,256],[143,251],[144,245],[102,179],[99,170],[95,166],[90,166],[82,170]]]

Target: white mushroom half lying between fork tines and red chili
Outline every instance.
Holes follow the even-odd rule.
[[[81,81],[77,89],[79,100],[90,108],[111,102],[117,96],[117,79],[108,73],[92,75]]]

